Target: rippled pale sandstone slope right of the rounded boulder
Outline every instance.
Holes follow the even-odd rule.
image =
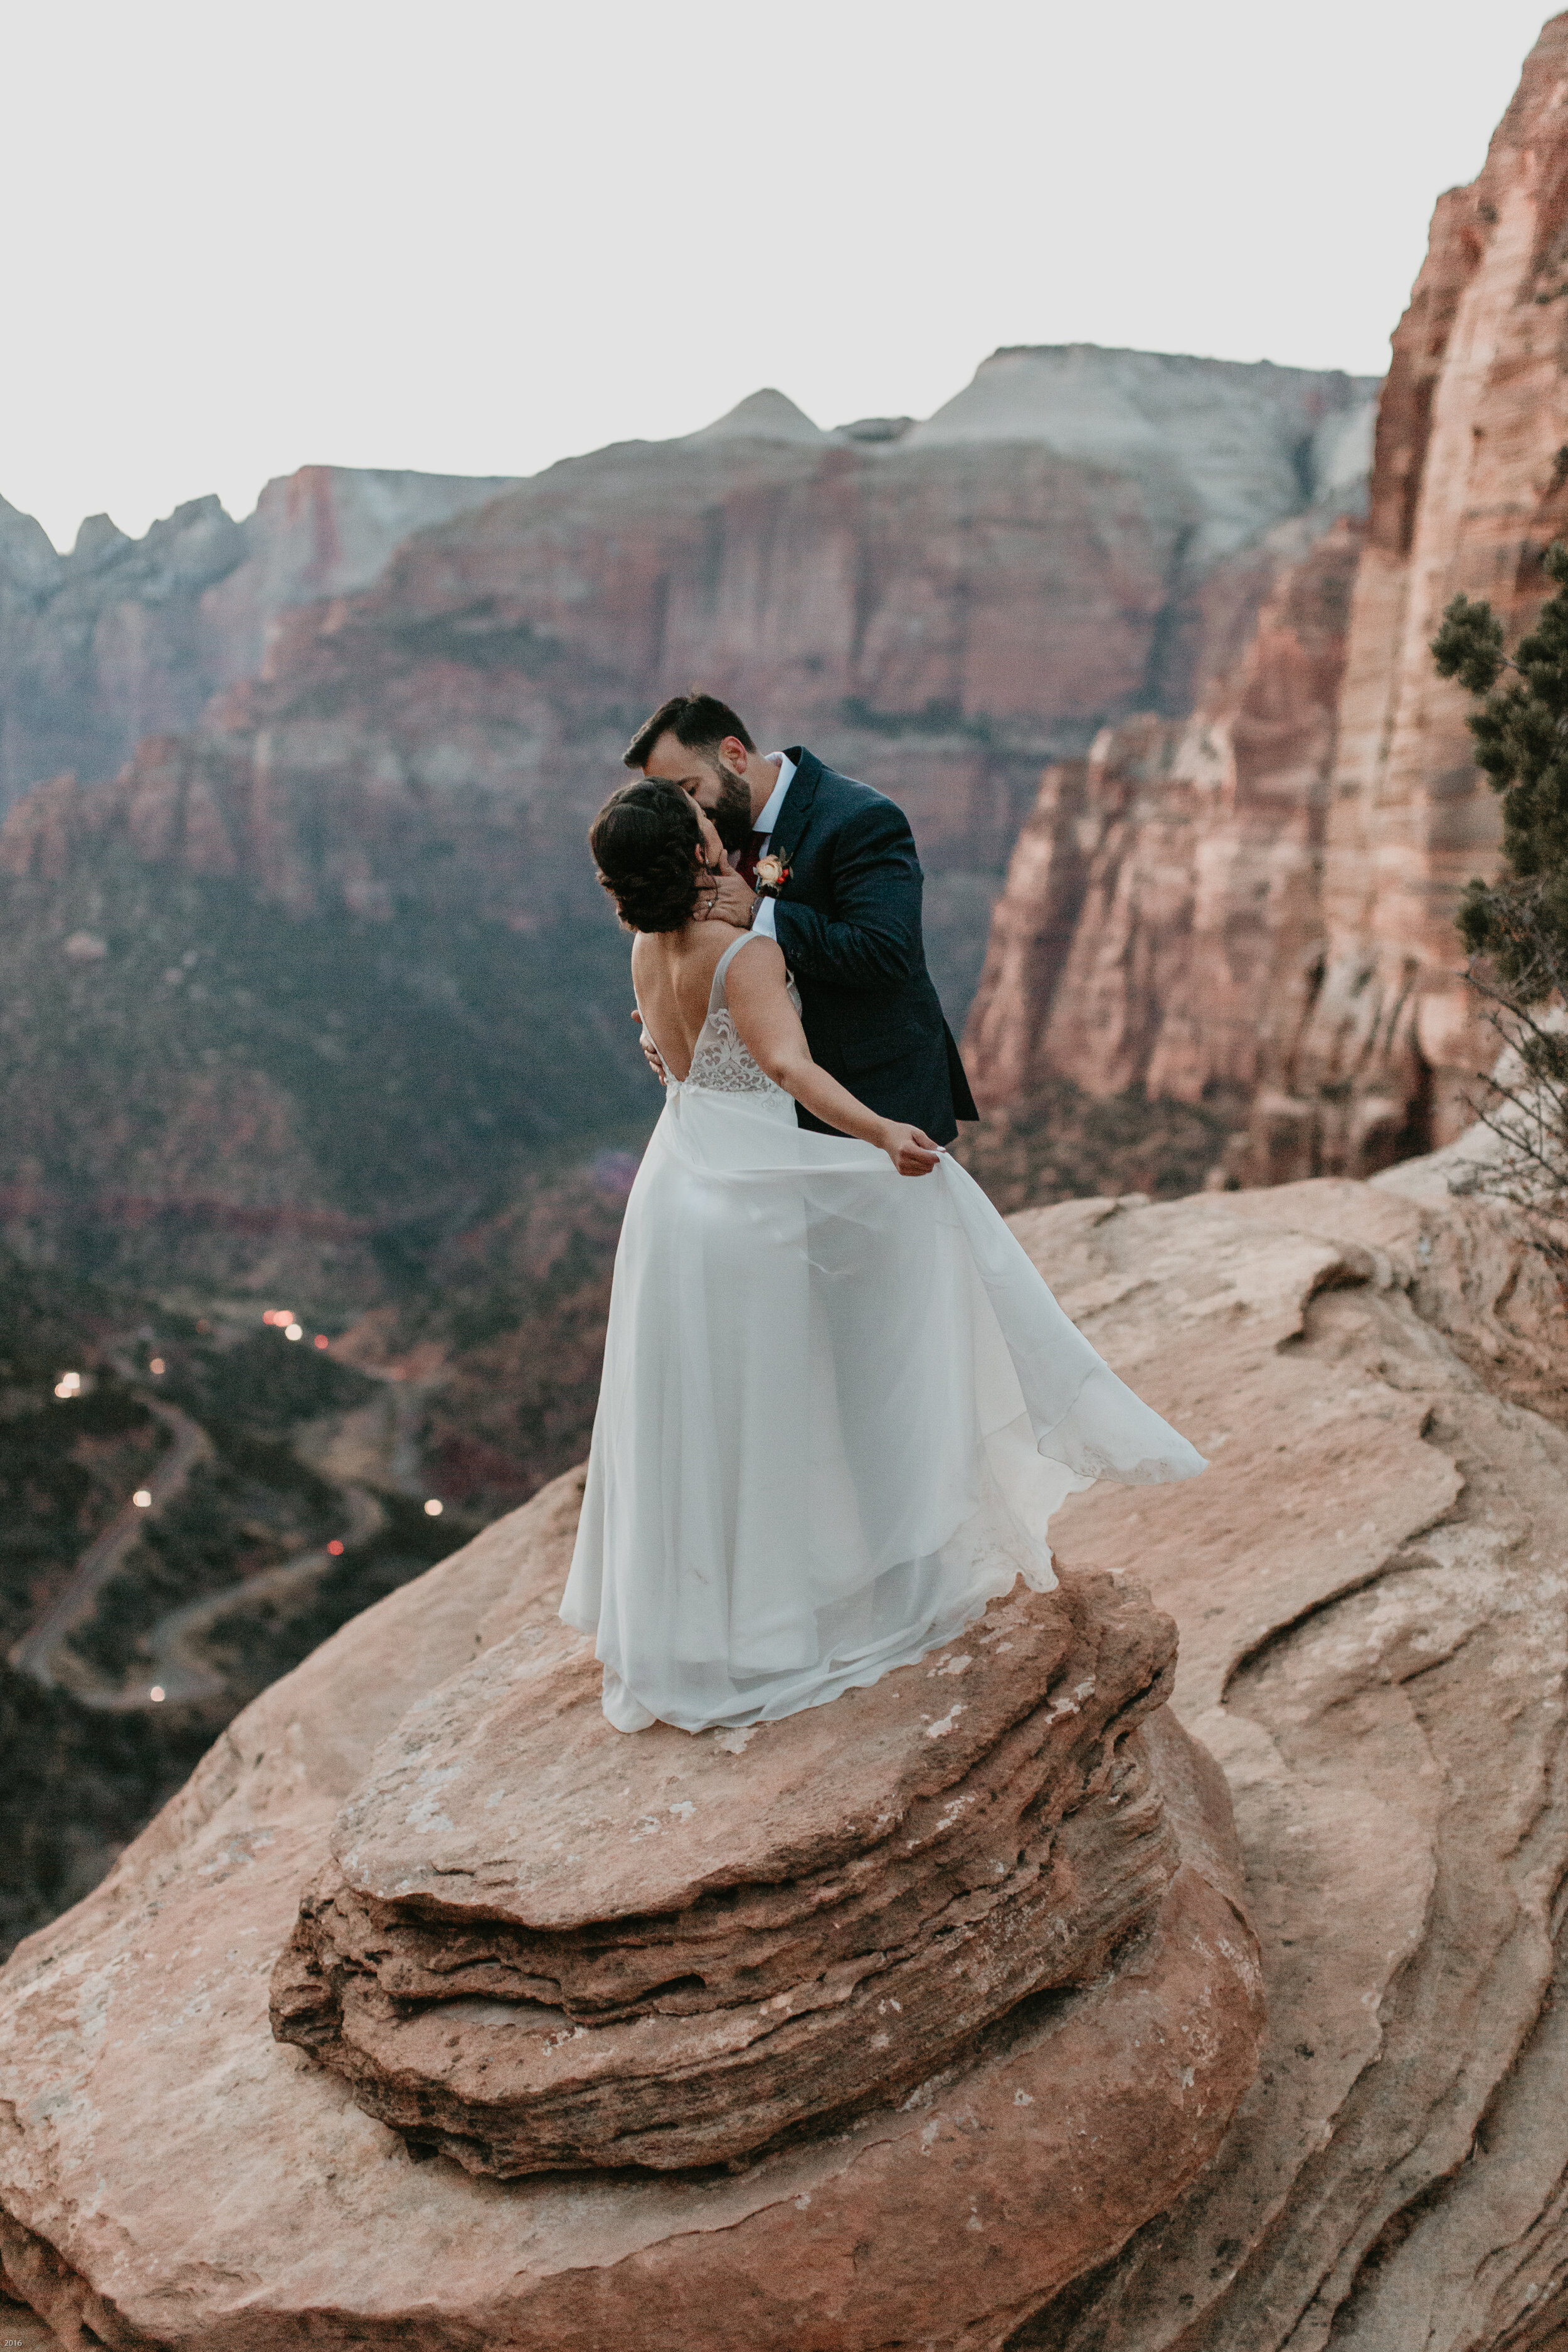
[[[1420,1167],[1018,1225],[1213,1461],[1182,1512],[1100,1489],[1056,1526],[1178,1618],[1175,1705],[1232,1788],[1269,1999],[1218,2161],[1018,2352],[1556,2343],[1556,1284]]]

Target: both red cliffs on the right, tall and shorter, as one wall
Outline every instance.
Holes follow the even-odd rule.
[[[1244,1181],[1385,1167],[1467,1122],[1488,1058],[1453,915],[1497,804],[1432,670],[1448,600],[1519,633],[1568,532],[1568,16],[1441,198],[1378,409],[1371,517],[1281,569],[1185,727],[1053,767],[969,1028],[1016,1117],[1046,1075],[1251,1117]],[[1274,534],[1281,567],[1288,534]],[[1354,579],[1352,579],[1354,574]]]

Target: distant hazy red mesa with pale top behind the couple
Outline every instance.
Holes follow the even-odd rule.
[[[357,595],[336,506],[282,485],[266,543],[190,607],[226,661],[273,616],[266,675],[197,729],[143,699],[127,774],[35,795],[5,868],[61,877],[73,842],[122,837],[299,910],[386,913],[437,856],[463,903],[538,929],[592,901],[581,840],[625,736],[703,677],[910,809],[961,1014],[1041,760],[1190,708],[1215,581],[1251,581],[1284,517],[1361,499],[1371,393],[1084,346],[1001,350],[914,426],[823,433],[757,393],[416,534]],[[197,539],[228,560],[235,529],[190,510],[190,562]],[[322,602],[282,609],[310,586]]]

